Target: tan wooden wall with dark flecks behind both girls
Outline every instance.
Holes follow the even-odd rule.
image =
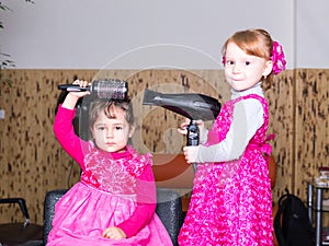
[[[52,125],[59,91],[57,84],[75,77],[118,78],[129,82],[137,130],[134,145],[140,152],[179,153],[184,139],[177,133],[182,117],[160,107],[141,105],[145,87],[168,93],[197,92],[229,98],[222,70],[5,70],[12,87],[1,85],[0,196],[24,197],[31,220],[43,223],[47,190],[68,188],[79,168],[57,143]],[[265,94],[270,102],[270,130],[277,163],[274,200],[288,188],[306,198],[305,180],[328,165],[329,70],[290,70],[275,79]],[[0,206],[0,223],[18,221],[19,209]]]

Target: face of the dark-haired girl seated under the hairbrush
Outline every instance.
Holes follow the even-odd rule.
[[[123,152],[134,130],[120,107],[115,107],[115,118],[107,118],[102,112],[91,128],[97,147],[106,152]]]

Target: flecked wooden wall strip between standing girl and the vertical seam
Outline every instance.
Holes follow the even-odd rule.
[[[284,188],[292,190],[294,156],[294,71],[284,71],[274,78],[273,85],[265,91],[270,105],[269,133],[276,163],[276,186],[273,199],[282,195]],[[292,190],[293,191],[293,190]]]

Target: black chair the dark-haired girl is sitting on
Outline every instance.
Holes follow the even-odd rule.
[[[46,194],[44,209],[44,243],[46,245],[52,221],[55,213],[55,203],[63,197],[66,189],[52,190]],[[156,212],[167,229],[174,246],[178,245],[177,238],[182,225],[182,202],[179,194],[171,189],[157,188],[157,209]]]

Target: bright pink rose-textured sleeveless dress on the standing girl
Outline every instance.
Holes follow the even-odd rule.
[[[189,211],[179,235],[180,246],[272,246],[272,192],[265,143],[269,125],[266,101],[256,94],[227,102],[205,145],[223,141],[229,130],[235,104],[256,98],[263,105],[264,124],[238,161],[197,166]]]

